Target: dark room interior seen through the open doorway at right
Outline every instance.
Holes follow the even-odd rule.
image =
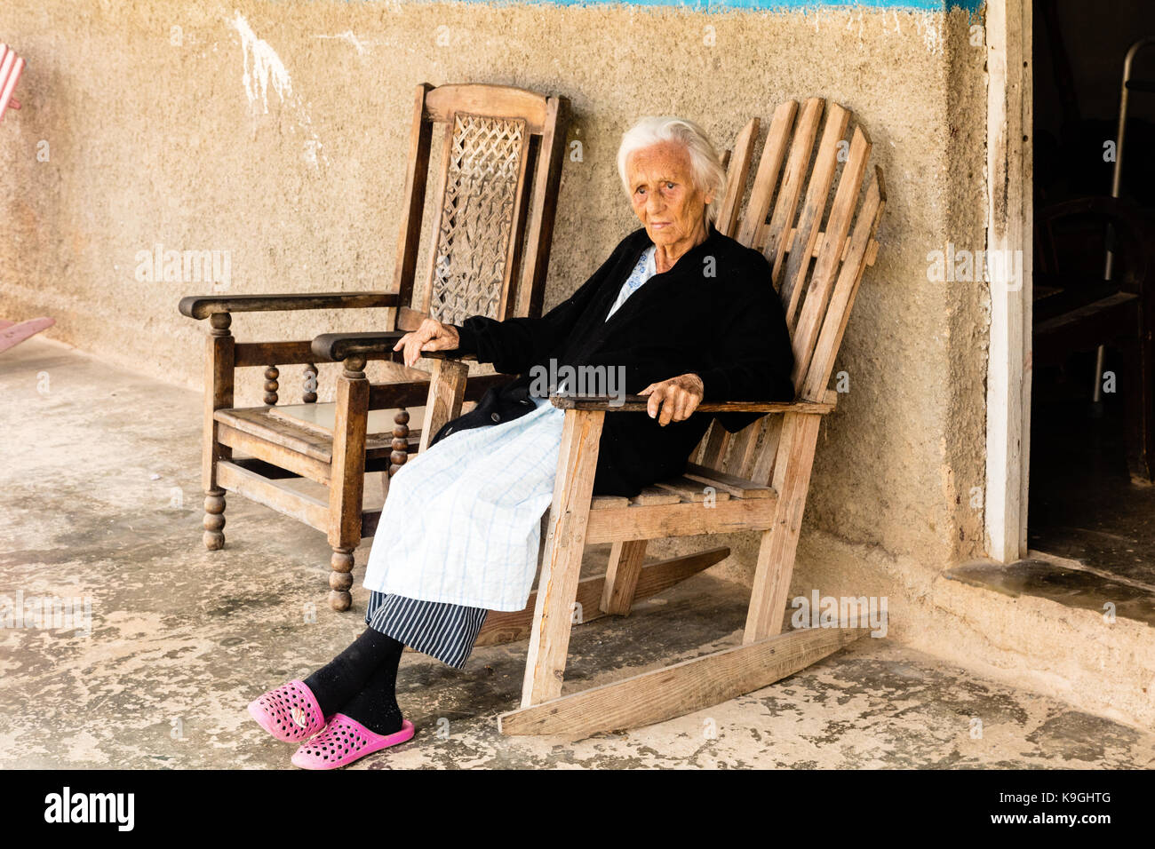
[[[1049,289],[1053,278],[1046,273],[1058,270],[1058,278],[1082,280],[1090,288],[1103,278],[1106,229],[1096,216],[1118,208],[1110,198],[1116,152],[1110,143],[1117,134],[1123,62],[1134,42],[1155,37],[1155,3],[1036,0],[1034,15],[1038,290],[1034,325],[1038,334],[1048,321],[1049,330],[1057,326],[1070,330],[1073,325],[1056,325],[1055,316],[1061,321],[1065,311],[1080,308],[1080,293]],[[1134,77],[1155,82],[1155,44],[1137,55]],[[1155,246],[1155,156],[1150,152],[1155,150],[1155,85],[1152,91],[1135,89],[1130,95],[1125,144],[1119,195],[1140,244],[1125,250],[1123,239],[1115,237],[1112,275],[1117,278],[1126,263],[1137,269],[1134,276],[1148,277],[1145,291],[1150,292],[1155,267],[1148,271],[1142,267],[1147,247]],[[1051,240],[1057,255],[1041,256],[1040,250],[1049,247],[1041,226],[1060,204],[1068,211],[1081,209],[1083,217],[1066,218],[1067,229],[1059,228]],[[1085,299],[1109,293],[1091,291]],[[1059,300],[1048,303],[1056,295]],[[1145,297],[1140,304],[1150,312],[1155,299]],[[1123,301],[1118,303],[1123,308]],[[1078,315],[1075,323],[1086,318],[1086,313]],[[1094,322],[1086,333],[1059,334],[1033,366],[1029,548],[1078,560],[1085,567],[1080,581],[1101,575],[1146,594],[1149,603],[1155,599],[1155,486],[1147,479],[1153,459],[1137,460],[1142,434],[1135,432],[1135,423],[1140,430],[1152,423],[1142,420],[1134,404],[1141,386],[1153,377],[1149,364],[1147,370],[1142,365],[1141,332],[1133,338],[1113,335],[1104,345],[1104,382],[1095,402],[1096,333],[1110,335]],[[1041,586],[1057,580],[1045,569],[1036,569],[1035,578]]]

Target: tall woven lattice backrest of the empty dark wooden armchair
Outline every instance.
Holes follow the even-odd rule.
[[[417,87],[396,291],[412,297],[434,125],[444,131],[427,266],[412,306],[440,321],[541,312],[566,100],[502,85]],[[398,320],[402,329],[415,321]]]

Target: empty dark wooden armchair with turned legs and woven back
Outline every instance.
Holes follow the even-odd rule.
[[[348,610],[353,551],[373,536],[380,509],[364,509],[366,471],[400,468],[424,446],[427,426],[409,426],[407,407],[427,396],[427,379],[370,385],[368,359],[393,360],[393,345],[426,315],[456,322],[537,315],[549,266],[568,120],[564,97],[501,85],[417,87],[410,133],[401,236],[393,288],[383,292],[218,295],[182,298],[180,312],[208,319],[204,373],[204,545],[224,546],[225,492],[237,492],[326,531],[333,546],[329,603]],[[441,126],[437,214],[430,225],[429,266],[415,297],[434,125]],[[412,308],[410,308],[412,306]],[[304,342],[236,342],[234,312],[385,307],[381,330]],[[278,407],[278,366],[319,360],[344,364],[336,402]],[[233,408],[236,370],[264,366],[264,407]],[[508,380],[479,375],[462,389],[476,400]],[[385,417],[392,416],[392,426]],[[234,454],[238,452],[238,454]],[[245,456],[240,456],[244,453]],[[313,492],[301,478],[319,484]],[[387,478],[386,478],[387,479]],[[320,490],[320,493],[318,492]]]

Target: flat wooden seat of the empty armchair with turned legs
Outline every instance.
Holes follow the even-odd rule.
[[[409,412],[409,450],[416,452],[422,438],[425,408]],[[365,438],[366,460],[387,459],[393,452],[393,417],[397,410],[370,410]],[[243,433],[304,454],[322,463],[333,462],[335,403],[247,407],[217,410],[213,418]]]

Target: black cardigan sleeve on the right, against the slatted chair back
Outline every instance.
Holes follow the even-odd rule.
[[[752,252],[744,277],[742,295],[723,312],[710,365],[698,375],[702,401],[792,401],[793,351],[769,262]]]

